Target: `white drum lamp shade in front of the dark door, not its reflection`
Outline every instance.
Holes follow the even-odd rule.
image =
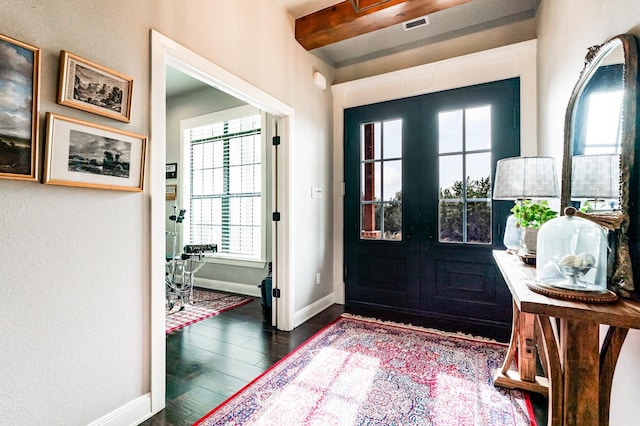
[[[557,198],[560,196],[553,157],[511,157],[498,160],[493,198]]]

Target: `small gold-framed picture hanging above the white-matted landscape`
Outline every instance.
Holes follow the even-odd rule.
[[[133,79],[62,50],[58,103],[131,121]]]

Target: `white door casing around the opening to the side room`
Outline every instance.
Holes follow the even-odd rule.
[[[149,152],[148,185],[151,195],[150,229],[150,282],[151,284],[151,411],[157,413],[165,406],[166,342],[165,342],[165,288],[164,262],[166,254],[166,164],[167,164],[167,70],[184,74],[230,98],[252,105],[270,117],[266,126],[273,136],[280,137],[280,144],[272,148],[268,156],[279,159],[281,165],[272,167],[271,205],[274,210],[289,217],[288,157],[293,110],[262,90],[218,67],[157,31],[151,31],[151,136]],[[273,154],[271,154],[273,152]],[[270,212],[263,212],[269,218]],[[273,286],[280,291],[280,298],[273,306],[274,326],[282,330],[293,328],[293,298],[288,286],[286,265],[289,253],[289,222],[267,221],[271,228],[271,252],[273,258]],[[257,286],[258,283],[256,283]]]

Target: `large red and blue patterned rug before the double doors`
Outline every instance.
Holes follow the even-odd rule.
[[[196,425],[535,425],[496,388],[506,346],[343,317]]]

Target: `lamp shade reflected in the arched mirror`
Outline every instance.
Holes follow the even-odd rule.
[[[620,155],[574,155],[571,163],[571,198],[620,197]]]

